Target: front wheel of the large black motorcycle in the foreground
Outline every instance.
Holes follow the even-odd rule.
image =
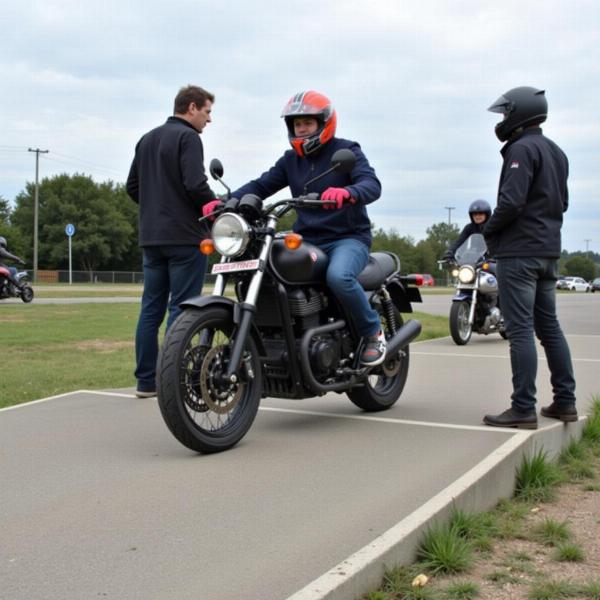
[[[157,364],[158,405],[171,433],[187,448],[211,454],[228,450],[246,435],[261,398],[258,351],[249,338],[244,380],[224,384],[234,326],[222,307],[183,311],[173,322]]]

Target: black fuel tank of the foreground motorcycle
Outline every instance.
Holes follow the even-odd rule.
[[[276,239],[269,262],[275,275],[285,283],[314,284],[325,280],[329,259],[312,244],[304,242],[297,250],[289,250],[283,240]]]

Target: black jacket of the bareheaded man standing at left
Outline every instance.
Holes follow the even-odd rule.
[[[140,205],[140,246],[195,245],[207,237],[198,219],[215,195],[204,172],[202,140],[185,119],[169,117],[142,137],[126,189]]]

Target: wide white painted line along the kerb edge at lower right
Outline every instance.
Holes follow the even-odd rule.
[[[329,593],[333,592],[344,582],[356,577],[366,565],[385,555],[390,549],[400,544],[411,532],[422,524],[429,522],[449,501],[452,501],[462,491],[474,485],[476,481],[501,463],[505,457],[517,450],[534,433],[534,431],[516,433],[504,442],[502,446],[494,450],[491,454],[488,454],[480,463],[467,471],[462,477],[459,477],[436,494],[431,500],[375,538],[370,544],[363,546],[346,560],[295,594],[289,596],[286,600],[316,600],[326,598]]]

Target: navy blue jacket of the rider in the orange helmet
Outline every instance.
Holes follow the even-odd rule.
[[[330,173],[305,189],[306,182],[330,167],[331,157],[340,148],[350,148],[356,156],[351,173]],[[316,156],[300,157],[288,150],[268,171],[232,195],[241,198],[256,194],[263,200],[288,187],[295,198],[305,193],[322,193],[329,187],[346,188],[356,204],[345,202],[340,210],[299,208],[294,231],[311,244],[324,244],[340,238],[355,238],[371,246],[371,223],[365,206],[381,195],[381,183],[356,142],[331,139]]]

